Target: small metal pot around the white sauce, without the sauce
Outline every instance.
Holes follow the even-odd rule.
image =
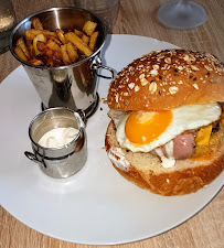
[[[76,128],[78,134],[70,143],[60,148],[44,148],[39,140],[54,128]],[[29,137],[33,153],[25,151],[25,155],[36,162],[49,176],[63,179],[78,172],[87,159],[85,125],[78,112],[57,107],[49,108],[36,115],[30,123]]]

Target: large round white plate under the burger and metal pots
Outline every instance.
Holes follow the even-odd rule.
[[[110,35],[104,61],[119,71],[151,50],[172,47],[177,46],[150,37]],[[100,98],[106,97],[108,84],[100,79]],[[41,111],[40,104],[22,66],[0,85],[1,205],[40,233],[92,245],[137,241],[183,223],[223,185],[224,173],[196,193],[164,197],[126,181],[102,149],[109,122],[108,108],[103,103],[86,127],[88,160],[84,169],[66,180],[51,179],[24,155],[25,150],[31,150],[29,123]]]

